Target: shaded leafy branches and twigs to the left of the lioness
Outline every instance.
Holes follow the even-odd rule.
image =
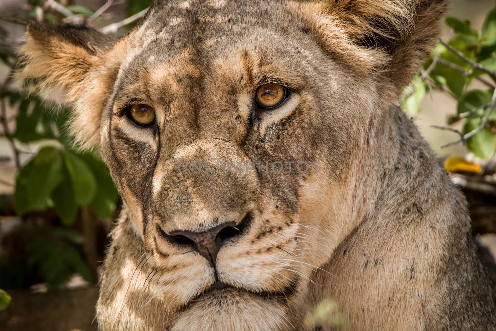
[[[149,0],[140,1],[139,10],[130,17],[105,26],[104,13],[116,2],[108,0],[93,11],[80,5],[63,6],[55,0],[30,1],[35,5],[24,4],[23,11],[2,13],[0,20],[19,25],[30,20],[98,24],[104,25],[104,33],[116,33],[139,19],[150,4]],[[0,61],[9,71],[0,79],[0,136],[8,142],[17,170],[15,187],[0,182],[15,188],[13,197],[6,198],[6,212],[13,210],[23,226],[31,229],[25,234],[29,238],[26,245],[22,245],[25,258],[0,261],[0,287],[29,286],[33,281],[60,287],[74,272],[94,281],[99,259],[97,229],[102,226],[99,220],[115,217],[119,196],[97,154],[73,148],[65,133],[68,111],[56,114],[38,95],[28,95],[17,87],[15,50],[22,43],[22,39],[8,40],[7,31],[0,26]],[[36,144],[35,152],[30,151],[31,144]],[[4,162],[8,159],[2,158]],[[0,310],[7,300],[10,297],[0,290]]]

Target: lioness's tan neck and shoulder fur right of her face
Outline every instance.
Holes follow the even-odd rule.
[[[496,325],[495,293],[488,293],[487,273],[477,263],[465,197],[398,106],[372,116],[369,129],[343,189],[346,198],[328,213],[327,222],[340,219],[348,226],[335,236],[331,258],[315,270],[299,306],[333,300],[339,307],[334,313],[347,322],[319,325],[307,313],[300,316],[305,330]],[[453,291],[463,286],[471,290],[453,303]],[[481,302],[474,316],[458,313]]]

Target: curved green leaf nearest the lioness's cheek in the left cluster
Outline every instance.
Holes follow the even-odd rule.
[[[93,211],[99,218],[112,217],[117,207],[119,194],[110,177],[109,169],[102,160],[94,154],[82,154],[81,157],[93,171],[98,183],[98,190],[95,194],[95,198],[91,201]]]

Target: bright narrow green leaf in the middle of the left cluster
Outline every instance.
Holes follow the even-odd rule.
[[[83,159],[68,150],[64,151],[64,163],[72,182],[75,201],[80,205],[89,203],[97,190],[91,169]]]

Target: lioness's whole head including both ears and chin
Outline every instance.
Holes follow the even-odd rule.
[[[444,7],[157,1],[121,39],[30,25],[24,75],[68,90],[71,132],[98,146],[125,203],[102,329],[150,302],[161,313],[143,315],[148,327],[289,328],[290,308],[373,207],[371,129],[430,51]]]

